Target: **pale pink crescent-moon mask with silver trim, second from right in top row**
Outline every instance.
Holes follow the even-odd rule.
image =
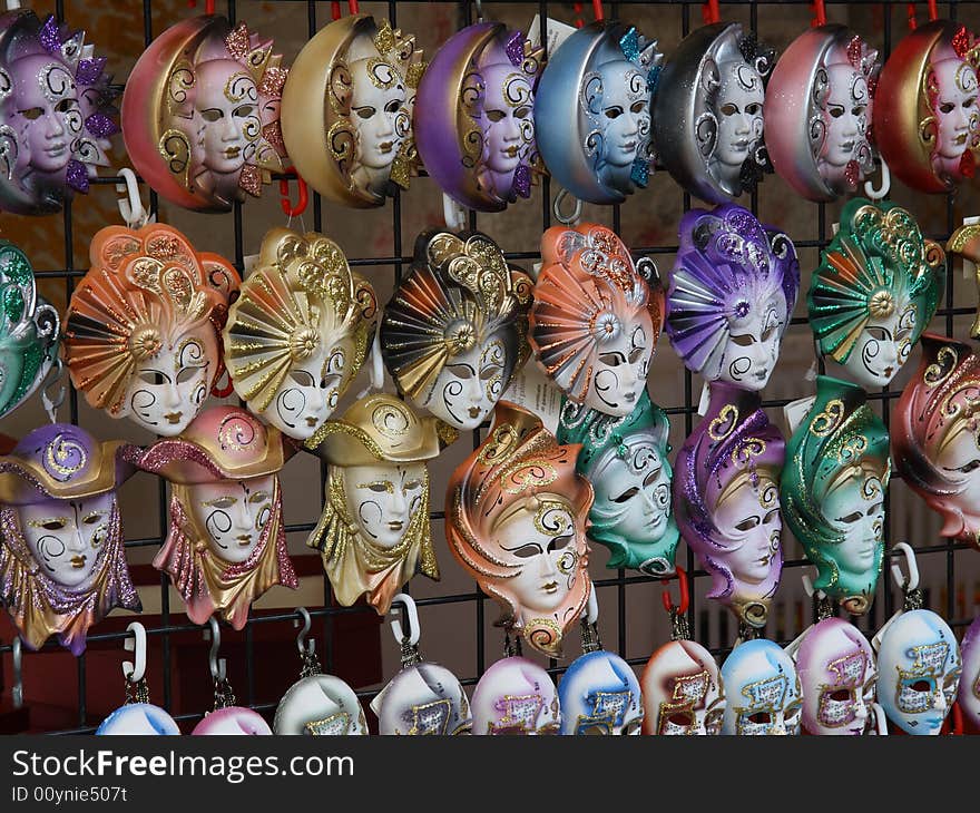
[[[775,170],[807,200],[853,195],[874,168],[871,105],[881,61],[845,26],[800,35],[780,57],[766,97]]]

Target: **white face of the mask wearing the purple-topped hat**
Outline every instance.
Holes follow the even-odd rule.
[[[18,506],[28,549],[46,576],[62,587],[88,585],[108,538],[116,497],[47,500]]]

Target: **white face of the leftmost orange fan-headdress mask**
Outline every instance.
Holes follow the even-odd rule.
[[[198,335],[178,336],[140,362],[126,388],[125,414],[165,438],[180,434],[207,398],[210,361],[205,347]]]

